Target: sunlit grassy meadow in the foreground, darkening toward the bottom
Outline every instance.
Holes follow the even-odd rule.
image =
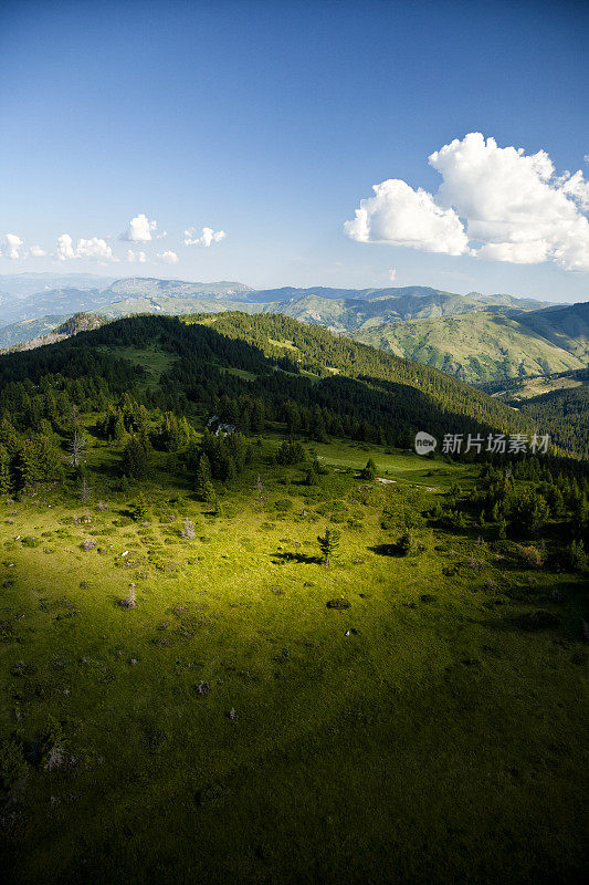
[[[523,571],[475,546],[474,529],[437,531],[416,559],[379,548],[385,503],[433,501],[454,479],[467,489],[472,468],[317,446],[338,469],[371,454],[398,485],[333,472],[315,491],[301,470],[281,470],[288,486],[260,462],[212,519],[161,475],[141,527],[109,491],[118,456],[92,442],[94,501],[56,489],[0,504],[2,732],[32,739],[51,711],[86,759],[31,769],[14,882],[576,881],[587,656],[565,629],[528,634],[512,618],[541,605],[566,625],[568,604],[543,597],[558,585],[574,600],[578,580]],[[193,541],[180,538],[186,514]],[[330,518],[343,543],[326,569],[315,539]],[[87,535],[99,549],[81,550]],[[138,605],[125,611],[132,581]],[[338,596],[348,611],[326,607]]]

